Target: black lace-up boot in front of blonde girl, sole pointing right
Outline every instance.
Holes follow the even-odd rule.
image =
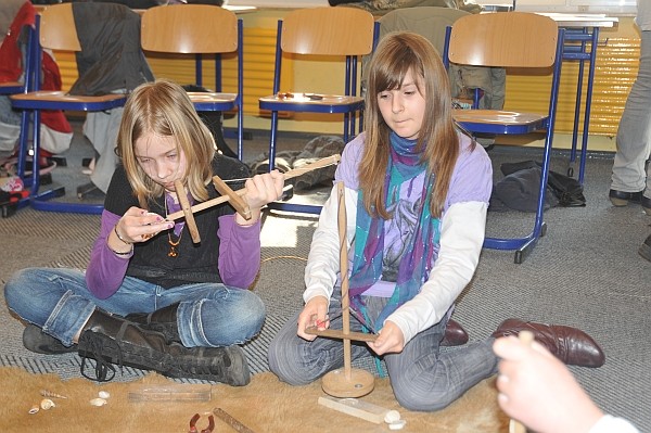
[[[113,364],[154,370],[169,378],[203,379],[233,386],[251,380],[244,351],[237,345],[186,347],[168,343],[159,332],[101,310],[95,310],[81,330],[78,349],[81,374],[100,382],[113,379]],[[87,358],[97,360],[94,378],[86,374]]]

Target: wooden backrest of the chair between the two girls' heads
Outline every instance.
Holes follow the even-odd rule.
[[[295,54],[363,55],[373,49],[373,15],[355,8],[307,8],[283,18],[282,51]]]

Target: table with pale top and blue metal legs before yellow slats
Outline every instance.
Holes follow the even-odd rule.
[[[586,106],[584,112],[583,138],[578,168],[578,182],[583,184],[585,175],[586,156],[588,151],[588,133],[590,126],[590,106],[592,102],[592,84],[595,82],[595,61],[599,44],[599,29],[613,28],[618,20],[602,14],[565,14],[565,13],[538,13],[557,22],[559,27],[565,28],[563,42],[563,61],[578,61],[578,80],[576,86],[576,104],[574,107],[574,129],[572,131],[572,150],[567,176],[574,176],[576,162],[578,128],[580,125],[580,104],[584,87],[585,62],[589,62],[588,80],[586,86]]]

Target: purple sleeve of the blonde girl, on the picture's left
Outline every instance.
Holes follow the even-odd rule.
[[[100,234],[90,253],[90,263],[86,270],[86,285],[93,296],[105,300],[117,292],[129,266],[131,256],[118,257],[106,244],[106,238],[119,221],[119,216],[108,211],[102,212]]]

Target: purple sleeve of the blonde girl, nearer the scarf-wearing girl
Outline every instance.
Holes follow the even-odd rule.
[[[260,221],[240,226],[234,215],[219,217],[219,275],[227,285],[247,289],[260,269]]]

